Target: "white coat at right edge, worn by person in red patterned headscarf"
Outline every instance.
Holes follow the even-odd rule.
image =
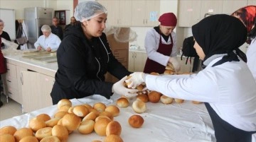
[[[252,40],[246,52],[247,65],[256,81],[256,37]]]

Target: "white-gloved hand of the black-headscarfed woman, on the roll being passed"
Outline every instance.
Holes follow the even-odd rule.
[[[143,76],[144,73],[142,72],[134,72],[130,74],[131,78],[127,79],[125,82],[128,83],[128,88],[136,88],[138,85],[144,82]]]

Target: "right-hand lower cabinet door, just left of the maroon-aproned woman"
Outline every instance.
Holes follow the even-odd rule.
[[[144,52],[134,52],[134,71],[144,71],[147,55]]]

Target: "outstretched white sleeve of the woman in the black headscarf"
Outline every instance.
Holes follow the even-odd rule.
[[[214,102],[218,87],[210,78],[210,73],[200,71],[193,75],[146,76],[146,88],[163,95],[183,100]]]

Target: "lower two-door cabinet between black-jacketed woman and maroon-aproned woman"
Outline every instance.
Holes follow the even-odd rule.
[[[146,52],[129,51],[129,71],[144,71],[147,55]]]

